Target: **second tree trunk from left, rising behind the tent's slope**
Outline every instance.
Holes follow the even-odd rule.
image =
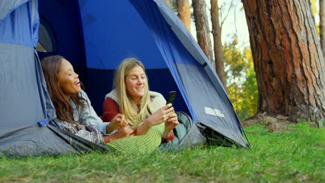
[[[195,27],[197,28],[197,42],[210,63],[215,67],[205,0],[192,0],[192,6]]]

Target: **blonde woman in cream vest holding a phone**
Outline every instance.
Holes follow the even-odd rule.
[[[144,65],[136,58],[126,58],[117,68],[114,89],[103,103],[103,121],[124,114],[133,128],[133,137],[118,139],[107,145],[120,153],[151,153],[162,141],[174,139],[178,125],[172,104],[163,95],[149,91]]]

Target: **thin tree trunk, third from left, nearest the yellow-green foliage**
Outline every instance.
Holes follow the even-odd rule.
[[[215,49],[215,71],[227,88],[226,72],[224,71],[224,53],[222,51],[221,28],[219,25],[219,6],[218,0],[211,0],[211,21],[213,26],[213,42]]]

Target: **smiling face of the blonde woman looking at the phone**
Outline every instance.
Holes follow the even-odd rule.
[[[147,77],[144,70],[140,66],[133,67],[125,76],[126,92],[135,103],[140,101],[144,95],[144,87],[146,87]]]

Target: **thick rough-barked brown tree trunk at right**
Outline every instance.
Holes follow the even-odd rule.
[[[325,68],[310,1],[242,3],[258,81],[258,113],[322,123]]]

